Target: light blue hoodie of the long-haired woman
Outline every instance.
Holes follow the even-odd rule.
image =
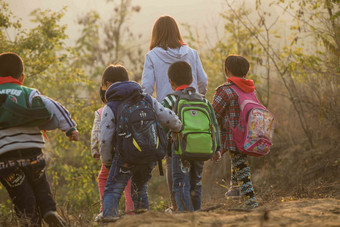
[[[174,92],[168,78],[169,66],[176,61],[188,62],[192,68],[193,81],[190,85],[199,93],[205,95],[207,91],[207,74],[204,72],[197,51],[187,45],[179,48],[164,50],[155,47],[145,55],[144,71],[142,75],[142,88],[152,95],[156,83],[156,99],[161,102],[170,93]]]

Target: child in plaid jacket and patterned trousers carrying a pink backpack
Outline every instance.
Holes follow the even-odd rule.
[[[258,206],[247,155],[268,154],[274,131],[273,115],[257,100],[254,81],[246,79],[249,67],[244,57],[228,56],[227,83],[216,89],[212,104],[220,126],[221,153],[229,151],[231,160],[231,182],[226,197],[242,197],[247,209]]]

